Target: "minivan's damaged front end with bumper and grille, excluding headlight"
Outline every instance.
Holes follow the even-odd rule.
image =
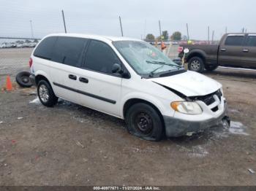
[[[170,90],[170,87],[166,87]],[[206,130],[220,123],[230,126],[230,118],[227,117],[227,103],[222,90],[200,96],[186,96],[177,93],[184,101],[195,101],[203,110],[202,114],[186,115],[176,112],[173,117],[164,116],[165,131],[168,137],[192,136],[193,133]]]

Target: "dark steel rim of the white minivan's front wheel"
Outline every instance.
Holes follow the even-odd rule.
[[[144,136],[150,134],[153,130],[153,121],[151,117],[144,112],[136,114],[134,122],[136,129]]]

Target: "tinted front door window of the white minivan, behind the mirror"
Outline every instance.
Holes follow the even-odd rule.
[[[95,40],[90,42],[86,52],[86,69],[113,74],[112,67],[114,63],[121,65],[117,55],[108,44]]]

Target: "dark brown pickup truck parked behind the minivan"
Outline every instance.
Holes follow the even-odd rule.
[[[178,57],[183,58],[192,71],[213,71],[218,66],[256,69],[256,34],[225,34],[218,45],[183,44]]]

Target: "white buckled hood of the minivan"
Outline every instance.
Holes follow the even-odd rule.
[[[222,87],[222,85],[214,79],[195,71],[187,71],[170,77],[151,78],[149,80],[157,82],[159,85],[170,87],[188,97],[208,95]]]

